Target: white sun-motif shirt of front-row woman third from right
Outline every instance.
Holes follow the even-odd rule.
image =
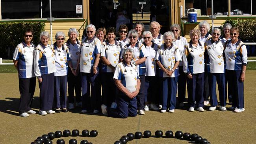
[[[197,47],[190,41],[184,50],[183,71],[185,74],[204,72],[204,42],[198,41]]]

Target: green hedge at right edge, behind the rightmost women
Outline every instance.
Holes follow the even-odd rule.
[[[250,19],[229,19],[226,20],[224,24],[229,23],[232,25],[232,27],[239,28],[239,38],[243,42],[256,42],[256,18],[250,18]],[[223,33],[223,27],[221,28],[222,35]]]

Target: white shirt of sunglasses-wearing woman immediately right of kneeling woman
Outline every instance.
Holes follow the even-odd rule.
[[[156,76],[156,61],[155,61],[155,56],[156,52],[158,51],[158,44],[154,43],[152,41],[151,46],[146,46],[146,52],[148,53],[148,57],[145,61],[146,64],[146,76]]]

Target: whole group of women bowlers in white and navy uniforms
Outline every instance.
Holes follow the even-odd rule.
[[[68,111],[67,84],[69,109],[78,105],[82,113],[102,111],[118,118],[143,115],[149,109],[173,113],[177,90],[179,106],[184,106],[186,81],[189,111],[204,111],[209,96],[209,111],[216,109],[216,82],[221,111],[226,111],[227,83],[231,109],[245,110],[247,50],[238,38],[238,28],[225,24],[223,37],[218,28],[210,35],[210,25],[202,21],[200,30],[189,32],[189,42],[180,36],[178,24],[163,35],[160,28],[155,21],[150,23],[150,31],[145,31],[142,22],[136,22],[130,31],[121,25],[118,32],[112,27],[96,30],[90,24],[81,42],[76,29],[70,28],[66,43],[64,33],[57,32],[51,46],[49,33],[43,31],[36,47],[31,43],[33,31],[26,30],[24,42],[13,56],[19,72],[20,116],[35,113],[31,109],[35,76],[39,81],[41,115]]]

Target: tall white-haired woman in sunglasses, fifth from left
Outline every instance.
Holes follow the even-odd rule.
[[[82,113],[93,110],[93,113],[100,111],[101,96],[99,82],[100,61],[100,40],[95,36],[96,28],[93,24],[86,26],[87,37],[82,40],[80,46],[80,56],[76,71],[80,70],[82,82]],[[89,89],[89,82],[91,90]],[[90,96],[91,91],[91,96]]]

